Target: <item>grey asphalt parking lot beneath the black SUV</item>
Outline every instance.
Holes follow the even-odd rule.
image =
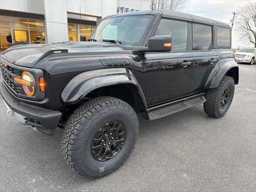
[[[202,105],[165,118],[140,118],[130,158],[98,180],[74,174],[53,137],[6,116],[0,98],[0,191],[256,191],[256,64],[239,64],[240,82],[219,119]]]

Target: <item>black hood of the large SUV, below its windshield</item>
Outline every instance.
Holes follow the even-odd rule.
[[[63,42],[55,44],[17,45],[8,48],[0,55],[4,60],[18,66],[33,67],[50,50],[72,52],[98,52],[123,50],[115,44],[104,42]],[[60,53],[61,54],[61,53]]]

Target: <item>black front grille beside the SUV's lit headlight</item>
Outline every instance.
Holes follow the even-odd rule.
[[[0,68],[2,72],[2,78],[5,84],[8,85],[8,88],[17,94],[26,95],[24,92],[22,85],[14,82],[14,76],[20,77],[22,70],[12,68],[8,66],[7,64],[0,61]]]

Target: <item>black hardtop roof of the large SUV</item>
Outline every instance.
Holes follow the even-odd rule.
[[[216,23],[216,24],[221,24],[221,25],[230,27],[228,24],[220,21],[216,21],[216,20],[212,20],[212,19],[208,19],[205,17],[200,17],[192,14],[171,11],[171,10],[147,10],[147,11],[138,11],[138,12],[128,12],[128,13],[110,15],[106,18],[118,17],[118,16],[132,16],[132,15],[151,15],[151,14],[153,15],[161,14],[162,17],[164,18],[173,18],[177,20],[184,20],[184,21],[196,22],[196,23],[208,24],[208,25],[214,25],[214,23]]]

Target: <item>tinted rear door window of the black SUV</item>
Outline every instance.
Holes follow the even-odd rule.
[[[212,43],[212,27],[200,24],[192,25],[193,50],[208,50]]]

